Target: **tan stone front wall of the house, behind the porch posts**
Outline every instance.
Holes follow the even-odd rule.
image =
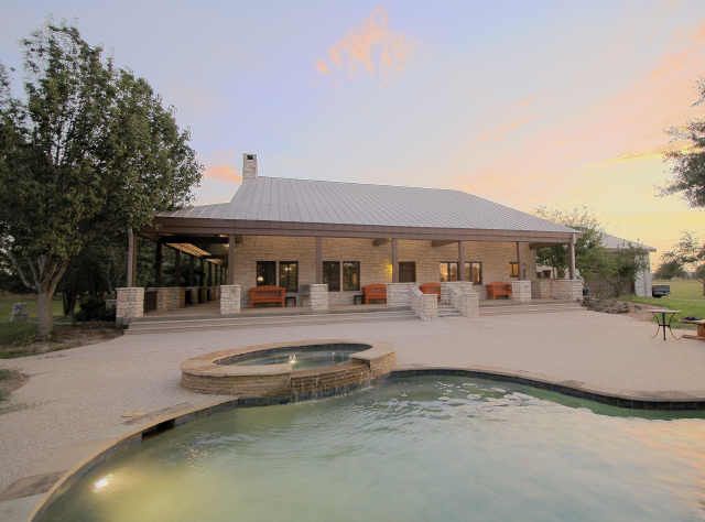
[[[482,282],[511,281],[509,263],[517,260],[513,242],[465,241],[465,260],[482,263]],[[520,244],[525,273],[535,273],[533,251],[528,243]],[[256,285],[257,261],[299,261],[299,284],[315,282],[315,239],[284,238],[273,236],[245,236],[235,249],[235,282],[243,289],[243,305],[247,305],[247,290]],[[457,243],[432,247],[426,240],[399,240],[400,262],[416,263],[416,282],[427,283],[440,280],[438,264],[457,261]],[[370,283],[391,283],[391,246],[389,242],[375,246],[371,239],[324,238],[324,261],[359,261],[360,287]],[[477,285],[480,298],[485,298],[484,285]],[[329,292],[330,305],[352,304],[354,295],[360,291]]]

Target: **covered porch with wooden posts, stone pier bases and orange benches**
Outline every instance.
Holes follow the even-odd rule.
[[[420,317],[433,317],[444,306],[474,315],[492,297],[511,304],[575,300],[582,293],[582,284],[575,280],[574,233],[332,229],[306,224],[253,227],[213,221],[158,218],[139,237],[130,235],[128,286],[119,291],[119,319],[400,307],[421,309]],[[154,242],[156,284],[148,287],[135,285],[142,241]],[[556,243],[570,251],[571,278],[538,280],[535,248]],[[167,255],[173,259],[170,276],[163,270]],[[368,300],[370,285],[381,286],[383,298]],[[505,291],[496,295],[488,291],[489,285],[503,285]],[[432,295],[434,305],[424,296],[429,287],[440,294]],[[268,291],[274,298],[258,300]]]

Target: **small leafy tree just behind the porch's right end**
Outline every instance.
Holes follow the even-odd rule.
[[[605,271],[605,249],[599,221],[585,207],[568,213],[540,207],[536,215],[549,221],[560,222],[577,230],[575,241],[575,265],[585,274],[601,274]],[[568,252],[564,244],[536,250],[536,263],[551,267],[557,276],[563,276],[568,267]]]

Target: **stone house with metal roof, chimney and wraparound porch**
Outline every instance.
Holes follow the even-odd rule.
[[[463,283],[478,300],[490,282],[511,283],[522,301],[577,297],[575,237],[571,228],[459,191],[261,176],[248,153],[229,203],[162,213],[130,236],[121,293],[131,297],[118,296],[118,315],[144,308],[145,292],[134,289],[138,238],[158,246],[148,309],[219,298],[229,314],[247,307],[249,289],[259,285],[284,287],[288,305],[296,306],[316,306],[321,292],[326,306],[357,304],[370,283],[388,285],[388,304],[411,305],[410,289],[426,282]],[[534,249],[555,243],[572,252],[568,281],[534,281]],[[160,284],[163,248],[205,263],[197,289]]]

